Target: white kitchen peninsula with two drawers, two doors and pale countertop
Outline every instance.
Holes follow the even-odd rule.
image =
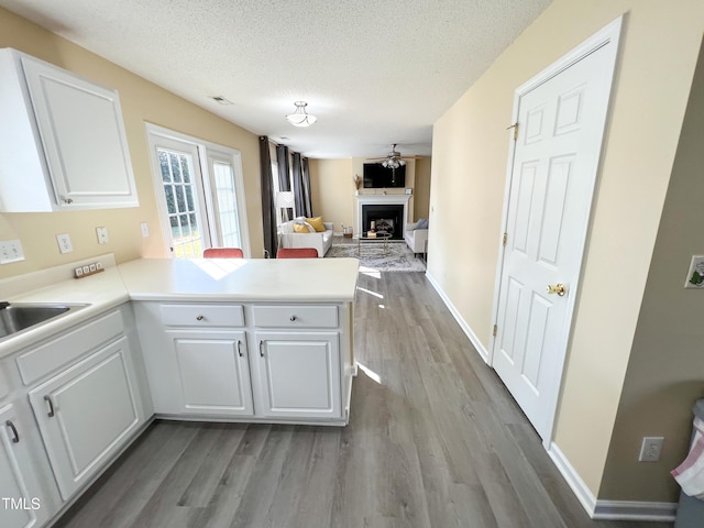
[[[120,266],[157,416],[345,425],[355,258]]]

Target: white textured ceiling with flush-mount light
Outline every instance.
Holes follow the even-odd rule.
[[[432,123],[550,0],[0,0],[310,157],[429,155]],[[221,106],[209,96],[233,102]],[[286,122],[294,101],[318,122]]]

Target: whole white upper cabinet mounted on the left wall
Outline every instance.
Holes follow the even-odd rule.
[[[0,211],[136,207],[120,99],[0,50]]]

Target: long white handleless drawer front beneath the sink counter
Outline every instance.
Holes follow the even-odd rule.
[[[111,341],[122,330],[122,316],[119,311],[113,311],[21,354],[16,362],[22,382],[29,385],[44,377],[98,345]]]

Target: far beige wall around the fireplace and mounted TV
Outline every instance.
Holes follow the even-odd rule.
[[[326,222],[334,222],[336,231],[344,226],[353,226],[356,233],[356,200],[354,199],[355,175],[362,176],[366,158],[310,160],[310,186],[312,188],[312,210],[321,215]],[[406,187],[414,189],[409,202],[408,221],[419,218],[420,212],[428,218],[430,196],[430,158],[409,160],[406,166]],[[382,189],[360,189],[360,194],[380,194]],[[387,194],[404,194],[404,189],[386,189]],[[418,212],[420,211],[420,212]]]

